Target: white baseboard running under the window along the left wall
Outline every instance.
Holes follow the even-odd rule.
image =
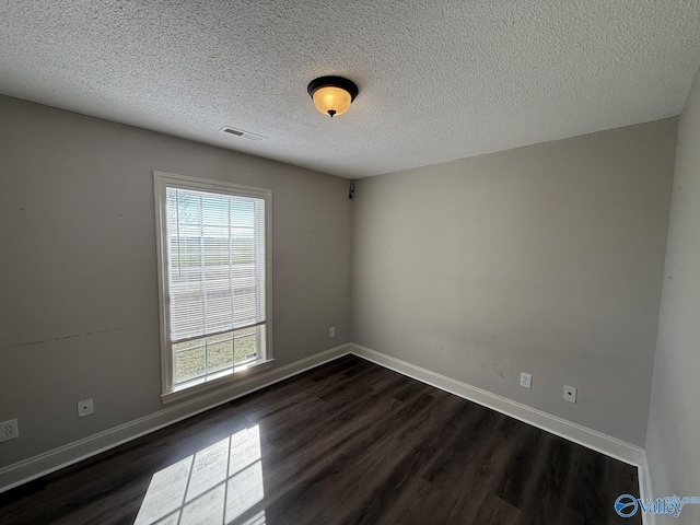
[[[349,347],[350,345],[341,345],[269,372],[255,374],[230,387],[197,396],[176,406],[0,468],[0,492],[337,359],[349,353]]]

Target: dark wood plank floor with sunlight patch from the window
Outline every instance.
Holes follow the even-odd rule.
[[[355,357],[0,494],[2,524],[640,524],[637,469]]]

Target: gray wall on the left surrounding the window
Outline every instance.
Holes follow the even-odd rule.
[[[0,467],[163,408],[152,170],[272,189],[278,366],[350,340],[347,180],[7,97],[0,160]]]

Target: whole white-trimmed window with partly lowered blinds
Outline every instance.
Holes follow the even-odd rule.
[[[153,178],[168,400],[271,362],[271,190]]]

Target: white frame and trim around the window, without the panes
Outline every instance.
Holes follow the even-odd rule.
[[[176,175],[153,171],[153,188],[155,199],[155,236],[158,258],[158,288],[160,314],[160,345],[161,345],[161,399],[163,404],[175,401],[199,393],[220,388],[226,384],[236,383],[253,372],[268,369],[272,365],[272,190],[243,186],[222,180],[210,180],[186,175]],[[170,267],[167,238],[167,188],[194,189],[228,196],[254,197],[265,201],[265,351],[253,363],[234,366],[223,373],[213,373],[199,380],[192,380],[185,385],[175,386],[174,365],[175,352],[171,337],[170,312]]]

